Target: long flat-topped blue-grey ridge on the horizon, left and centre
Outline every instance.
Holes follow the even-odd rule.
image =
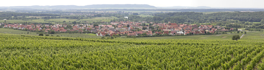
[[[86,6],[75,6],[75,5],[57,5],[57,6],[11,6],[11,7],[0,7],[0,8],[30,8],[30,9],[94,9],[94,8],[156,8],[147,4],[96,4]]]

